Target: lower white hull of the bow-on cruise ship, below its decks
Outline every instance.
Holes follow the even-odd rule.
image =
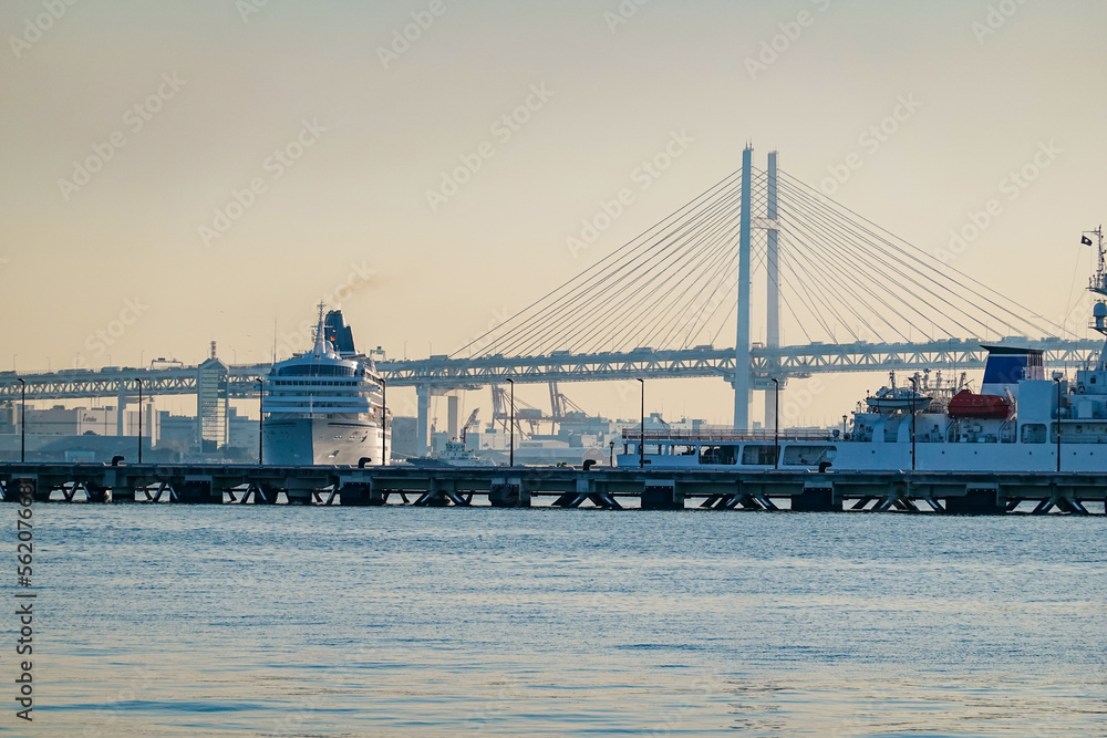
[[[392,441],[387,440],[391,457]],[[358,466],[362,459],[369,459],[369,465],[380,465],[385,444],[375,423],[306,417],[266,420],[262,448],[267,465]],[[389,464],[387,458],[384,464]]]

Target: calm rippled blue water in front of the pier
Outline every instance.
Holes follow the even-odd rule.
[[[1101,517],[34,511],[20,735],[1107,735]]]

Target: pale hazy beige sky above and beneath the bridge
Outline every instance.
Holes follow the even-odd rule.
[[[211,341],[267,361],[307,347],[320,300],[362,349],[449,354],[747,144],[1070,321],[1104,217],[1105,21],[1096,0],[6,0],[0,367],[195,364]],[[884,380],[796,381],[784,402],[832,423]],[[721,380],[651,384],[649,410],[730,418]],[[625,387],[562,389],[638,414]],[[394,394],[405,414],[414,392]],[[487,415],[487,391],[464,404]]]

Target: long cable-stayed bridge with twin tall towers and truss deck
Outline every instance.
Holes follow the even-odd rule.
[[[829,200],[779,170],[775,153],[767,169],[754,168],[747,148],[741,169],[454,354],[379,361],[377,370],[390,386],[416,388],[426,449],[432,396],[508,377],[717,376],[734,387],[735,426],[748,427],[754,391],[765,392],[772,418],[773,380],[980,368],[982,341],[1039,347],[1057,366],[1083,365],[1103,345]],[[147,396],[197,394],[206,427],[206,415],[226,416],[228,398],[257,396],[268,370],[211,358],[187,368],[0,373],[0,401],[20,396],[21,378],[31,399],[117,397],[122,417],[141,381]]]

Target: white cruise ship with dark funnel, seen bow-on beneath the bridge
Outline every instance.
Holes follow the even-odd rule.
[[[273,365],[261,398],[262,453],[275,466],[387,465],[392,428],[383,381],[356,353],[342,313],[319,323],[311,351]]]

